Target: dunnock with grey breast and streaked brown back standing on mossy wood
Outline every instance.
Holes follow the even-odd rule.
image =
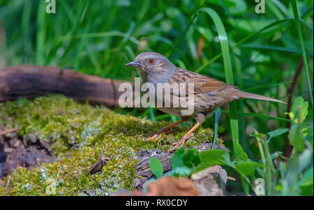
[[[158,83],[194,84],[194,89],[192,91],[194,97],[194,110],[192,114],[188,116],[183,116],[181,114],[181,110],[186,109],[186,107],[157,107],[158,110],[168,114],[181,116],[181,120],[172,123],[170,126],[165,126],[159,130],[156,135],[149,137],[147,140],[153,140],[161,133],[166,133],[170,128],[187,121],[189,117],[193,117],[193,119],[197,122],[179,142],[174,143],[175,146],[169,151],[174,151],[175,149],[182,147],[190,134],[205,121],[205,116],[208,112],[211,112],[216,109],[216,107],[220,107],[232,100],[254,98],[284,103],[281,100],[276,100],[274,98],[260,96],[253,93],[246,93],[244,91],[240,91],[233,85],[225,84],[224,82],[220,82],[210,77],[184,70],[174,66],[169,59],[156,52],[142,52],[137,55],[135,61],[127,63],[126,66],[133,66],[137,68],[137,70],[140,71],[143,83],[149,82],[154,84],[155,87]],[[174,94],[176,93],[172,93],[173,96]],[[190,91],[188,94],[190,94]],[[156,97],[156,99],[158,100],[158,97]]]

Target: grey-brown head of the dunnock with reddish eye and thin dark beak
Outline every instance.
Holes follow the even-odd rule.
[[[156,52],[142,52],[137,55],[135,61],[126,63],[126,66],[133,66],[140,70],[140,73],[145,73],[147,75],[163,75],[174,65],[162,54]]]

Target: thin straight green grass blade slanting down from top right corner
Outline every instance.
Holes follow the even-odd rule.
[[[310,80],[310,75],[308,74],[308,60],[306,59],[306,50],[304,47],[304,40],[303,40],[303,36],[302,36],[302,31],[301,31],[301,24],[300,24],[300,20],[299,20],[300,17],[299,17],[299,12],[298,12],[298,8],[297,8],[297,2],[295,0],[291,0],[291,4],[292,4],[293,15],[294,15],[294,22],[295,22],[296,27],[297,27],[297,33],[298,33],[300,44],[301,44],[301,52],[302,52],[302,57],[304,60],[304,68],[306,70],[306,78],[308,80],[308,89],[310,90],[312,108],[314,108],[311,80]]]

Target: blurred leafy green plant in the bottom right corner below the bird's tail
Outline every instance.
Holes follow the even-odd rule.
[[[304,123],[308,114],[308,102],[297,97],[292,112],[287,113],[292,120],[289,129],[277,129],[265,135],[255,130],[262,155],[264,170],[257,170],[265,179],[267,195],[311,195],[313,196],[313,123]],[[297,120],[296,120],[297,119]],[[290,158],[283,159],[276,152],[269,152],[269,142],[273,137],[288,133],[293,146]],[[275,159],[275,160],[274,160]],[[274,161],[273,161],[274,160]]]

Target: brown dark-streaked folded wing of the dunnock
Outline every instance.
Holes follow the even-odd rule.
[[[178,84],[186,83],[187,89],[188,83],[193,83],[194,89],[190,91],[193,94],[220,91],[228,86],[227,84],[225,84],[225,82],[220,82],[219,80],[215,80],[211,77],[199,75],[197,73],[193,73],[182,68],[177,68],[176,72],[172,75],[172,78],[169,82]],[[186,95],[187,94],[188,91],[186,91]]]

